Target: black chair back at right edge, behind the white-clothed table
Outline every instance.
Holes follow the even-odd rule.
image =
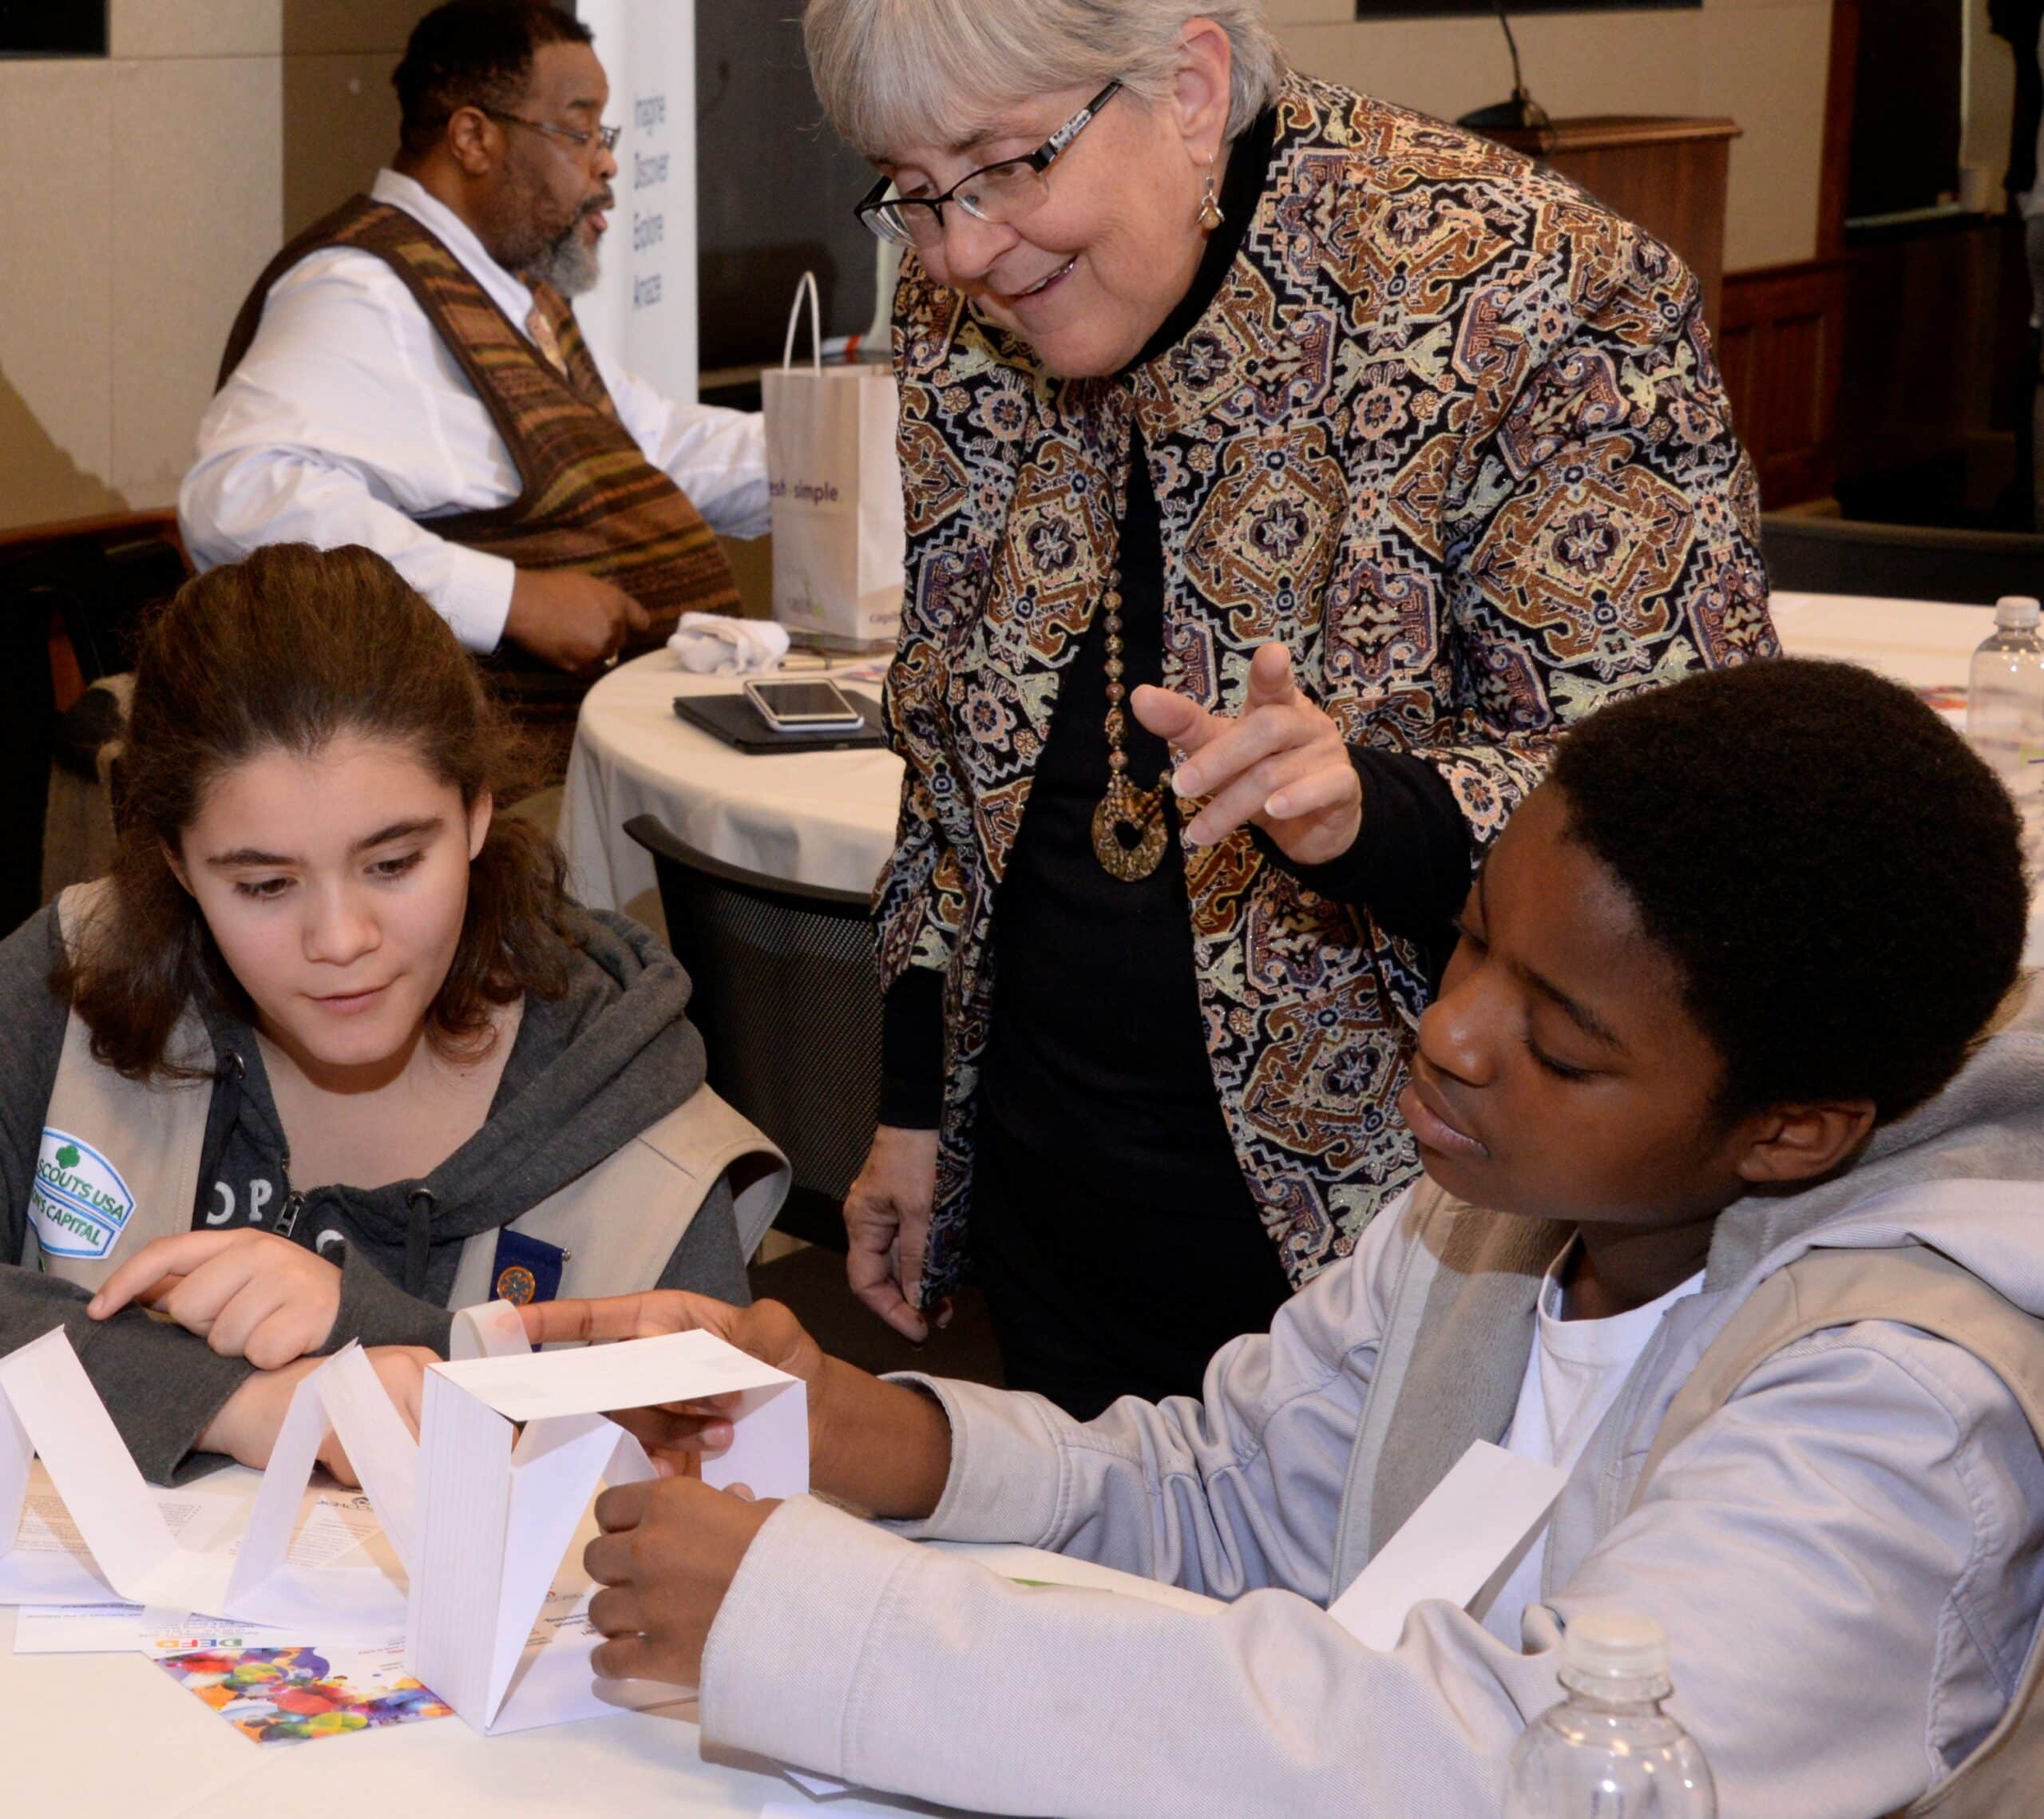
[[[1766,513],[1760,548],[1768,580],[1782,593],[1981,607],[2011,593],[2044,595],[2044,535]]]

